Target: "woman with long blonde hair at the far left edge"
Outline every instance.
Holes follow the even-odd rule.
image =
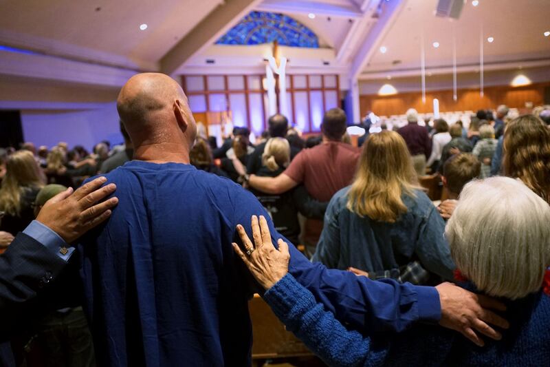
[[[44,185],[44,176],[30,151],[20,150],[8,157],[0,187],[0,229],[15,235],[34,219],[32,203]]]

